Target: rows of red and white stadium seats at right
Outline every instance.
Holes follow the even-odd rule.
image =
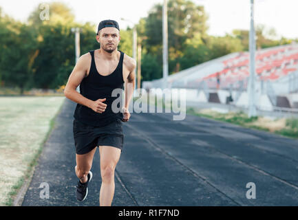
[[[262,80],[277,80],[298,70],[298,45],[282,45],[279,47],[258,50],[255,54],[255,72]],[[202,80],[211,80],[209,88],[215,88],[216,83],[212,79],[220,76],[220,87],[229,87],[229,84],[237,80],[245,80],[249,77],[249,53],[240,52],[234,57],[222,61],[222,69],[219,72],[204,76]]]

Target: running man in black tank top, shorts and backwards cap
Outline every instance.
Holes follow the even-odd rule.
[[[128,109],[134,90],[136,61],[118,51],[120,29],[116,21],[100,21],[96,41],[100,43],[100,49],[89,51],[78,59],[64,94],[77,103],[73,122],[76,147],[74,169],[79,179],[76,199],[83,201],[87,197],[93,157],[98,146],[102,178],[99,204],[111,206],[115,191],[114,171],[123,149],[122,123],[130,117]],[[80,93],[76,91],[78,85]],[[122,111],[118,106],[120,111],[116,112],[115,107],[112,109],[112,102],[122,95],[114,97],[112,91],[123,91],[123,87],[124,106]]]

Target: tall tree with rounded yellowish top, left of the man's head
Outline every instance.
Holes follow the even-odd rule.
[[[41,6],[45,5],[49,6],[50,18],[42,21],[40,14],[45,8]],[[71,28],[83,25],[75,23],[72,10],[59,2],[39,4],[30,14],[28,23],[38,33],[36,42],[39,48],[33,65],[32,87],[55,89],[65,85],[75,65],[74,34]],[[94,26],[89,23],[85,26],[81,33],[81,52],[86,52],[87,42],[88,45],[94,45],[89,39]]]

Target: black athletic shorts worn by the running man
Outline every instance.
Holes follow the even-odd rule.
[[[76,154],[85,154],[92,151],[96,146],[114,146],[123,148],[122,121],[117,119],[107,126],[92,126],[83,124],[74,119],[74,145]]]

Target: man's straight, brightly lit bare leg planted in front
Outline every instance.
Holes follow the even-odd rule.
[[[114,173],[121,150],[113,146],[98,146],[100,153],[101,187],[99,206],[111,206],[115,192]]]

